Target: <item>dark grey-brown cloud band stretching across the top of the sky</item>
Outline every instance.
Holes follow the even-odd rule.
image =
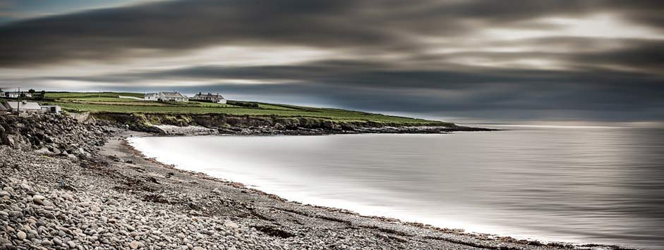
[[[3,25],[0,65],[174,54],[219,44],[417,51],[421,44],[413,35],[449,36],[477,25],[597,11],[660,28],[655,14],[663,7],[662,1],[168,1]]]

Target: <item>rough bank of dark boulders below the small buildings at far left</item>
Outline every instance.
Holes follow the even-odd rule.
[[[117,130],[108,123],[79,123],[66,115],[0,115],[0,144],[40,154],[90,157]]]

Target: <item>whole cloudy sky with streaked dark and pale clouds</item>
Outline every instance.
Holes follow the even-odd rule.
[[[664,121],[664,1],[0,0],[0,87]]]

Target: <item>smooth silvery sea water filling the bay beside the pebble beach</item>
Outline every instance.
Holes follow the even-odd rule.
[[[664,129],[134,137],[147,156],[308,204],[544,241],[664,249]]]

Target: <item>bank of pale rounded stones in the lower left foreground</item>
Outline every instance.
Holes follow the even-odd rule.
[[[69,189],[81,185],[60,187],[62,176],[56,170],[80,166],[68,164],[69,158],[41,158],[22,151],[8,155],[8,150],[0,147],[0,154],[7,156],[0,159],[0,249],[287,249],[260,242],[257,230],[227,218],[145,206],[112,189],[78,192]],[[30,169],[22,164],[25,161],[52,169]],[[12,162],[18,165],[12,168]],[[37,179],[55,187],[29,180],[37,171]],[[71,177],[83,177],[76,172],[71,170]],[[95,185],[92,179],[78,181]]]

